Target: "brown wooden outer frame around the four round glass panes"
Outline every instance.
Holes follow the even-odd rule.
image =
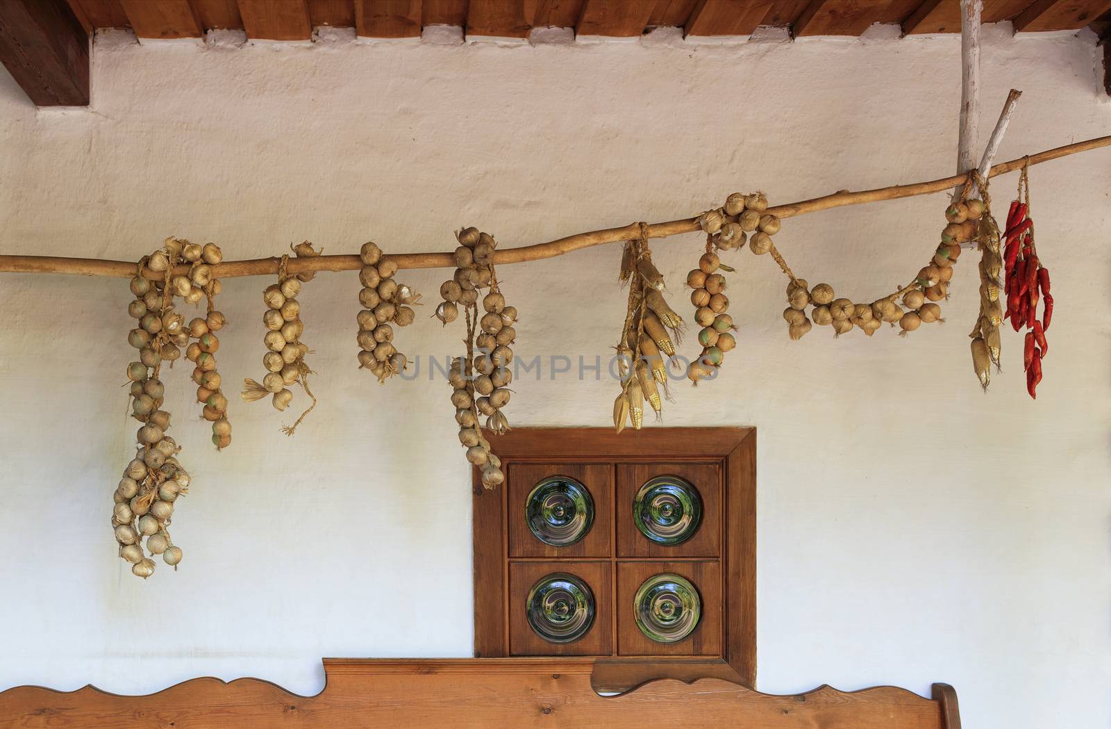
[[[755,428],[649,428],[621,435],[611,428],[518,428],[487,435],[507,469],[513,463],[558,461],[718,461],[723,505],[721,566],[724,570],[724,642],[721,658],[668,659],[601,657],[585,659],[617,678],[615,690],[638,680],[700,676],[727,678],[747,687],[757,675],[757,439]],[[508,488],[482,487],[473,471],[474,656],[506,658],[509,650]],[[615,548],[615,546],[614,546]],[[598,679],[595,687],[605,683]]]

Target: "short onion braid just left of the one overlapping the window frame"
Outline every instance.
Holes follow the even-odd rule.
[[[406,356],[393,346],[393,327],[408,327],[416,313],[420,294],[404,283],[393,280],[398,264],[382,256],[382,249],[373,241],[362,244],[359,251],[362,268],[359,270],[359,367],[368,369],[379,382],[401,372],[407,364]]]

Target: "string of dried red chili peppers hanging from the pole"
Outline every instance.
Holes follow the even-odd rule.
[[[1022,348],[1022,368],[1027,373],[1027,391],[1038,397],[1042,379],[1042,358],[1049,352],[1045,331],[1053,318],[1053,297],[1050,294],[1049,269],[1042,266],[1034,246],[1034,223],[1030,218],[1030,179],[1028,168],[1019,177],[1019,192],[1007,216],[1003,239],[1004,291],[1007,312],[1014,331],[1027,328]],[[1038,320],[1038,301],[1042,301],[1042,320]]]

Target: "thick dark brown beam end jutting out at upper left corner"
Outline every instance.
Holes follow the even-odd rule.
[[[89,104],[89,37],[66,0],[0,0],[0,63],[36,106]]]

